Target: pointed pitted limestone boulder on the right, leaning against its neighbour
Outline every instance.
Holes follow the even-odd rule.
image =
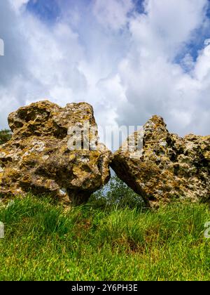
[[[153,116],[127,138],[111,166],[152,206],[174,198],[210,199],[210,136],[180,138],[167,131],[161,117]]]

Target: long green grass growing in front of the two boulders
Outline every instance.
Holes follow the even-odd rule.
[[[29,196],[0,221],[0,280],[209,280],[207,204],[63,211]]]

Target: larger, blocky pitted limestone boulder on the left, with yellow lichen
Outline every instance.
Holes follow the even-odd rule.
[[[109,181],[111,152],[98,142],[87,103],[32,103],[8,123],[13,136],[0,145],[1,199],[31,191],[82,204]]]

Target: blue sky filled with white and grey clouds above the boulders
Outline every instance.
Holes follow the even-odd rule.
[[[0,129],[48,98],[86,101],[102,126],[209,134],[209,0],[1,0]]]

